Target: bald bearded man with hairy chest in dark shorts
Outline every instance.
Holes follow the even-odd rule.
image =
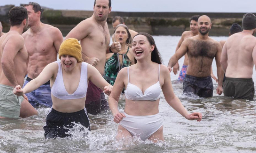
[[[217,94],[222,93],[223,71],[220,65],[220,42],[208,36],[212,27],[211,19],[203,15],[198,18],[199,34],[185,39],[177,52],[171,57],[168,69],[172,67],[186,53],[188,54],[188,70],[183,82],[183,93],[192,92],[200,97],[212,97],[213,84],[211,79],[212,60],[215,57],[218,74]]]

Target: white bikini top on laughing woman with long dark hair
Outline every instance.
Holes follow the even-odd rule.
[[[158,82],[148,87],[148,89],[145,90],[144,94],[142,93],[139,87],[130,83],[129,67],[127,67],[127,73],[128,73],[128,84],[127,84],[126,90],[124,91],[125,98],[129,100],[134,100],[134,101],[139,101],[139,100],[155,101],[160,98],[160,94],[161,94],[161,85],[159,82],[160,64],[158,68]]]

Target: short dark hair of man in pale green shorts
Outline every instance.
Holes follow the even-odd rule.
[[[25,7],[16,6],[9,11],[10,25],[20,25],[24,19],[28,20],[28,11]]]

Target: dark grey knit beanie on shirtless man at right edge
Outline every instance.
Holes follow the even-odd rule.
[[[242,28],[244,30],[252,30],[256,28],[256,17],[252,13],[246,13],[244,14],[243,20],[242,20]]]

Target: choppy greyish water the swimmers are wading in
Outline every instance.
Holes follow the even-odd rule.
[[[212,37],[226,40],[227,37]],[[180,36],[154,36],[156,45],[167,65],[174,54]],[[182,66],[183,59],[179,61]],[[212,64],[216,73],[216,64]],[[255,70],[253,80],[256,80]],[[109,112],[89,114],[92,132],[79,130],[79,124],[70,131],[72,137],[44,140],[43,126],[50,108],[38,108],[39,115],[18,120],[0,120],[0,153],[69,153],[69,152],[174,152],[174,153],[250,153],[256,152],[255,101],[234,100],[216,94],[213,81],[212,98],[182,95],[182,83],[171,73],[175,94],[189,112],[201,112],[201,122],[189,121],[167,104],[163,93],[159,113],[164,120],[164,142],[131,140],[129,145],[115,141],[117,124]],[[119,102],[124,111],[124,98]],[[122,147],[125,149],[120,150]]]

